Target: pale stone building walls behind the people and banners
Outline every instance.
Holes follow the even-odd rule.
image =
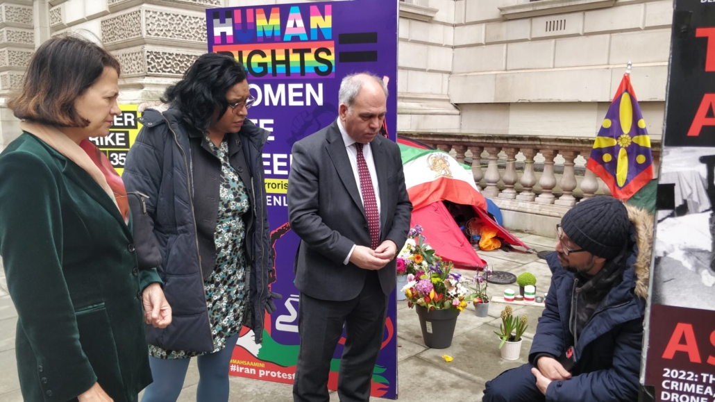
[[[91,32],[122,63],[121,102],[159,97],[206,50],[204,9],[300,0],[1,0],[0,148],[18,132],[4,97],[36,46]],[[662,132],[671,0],[400,2],[398,129],[593,137],[633,62]]]

